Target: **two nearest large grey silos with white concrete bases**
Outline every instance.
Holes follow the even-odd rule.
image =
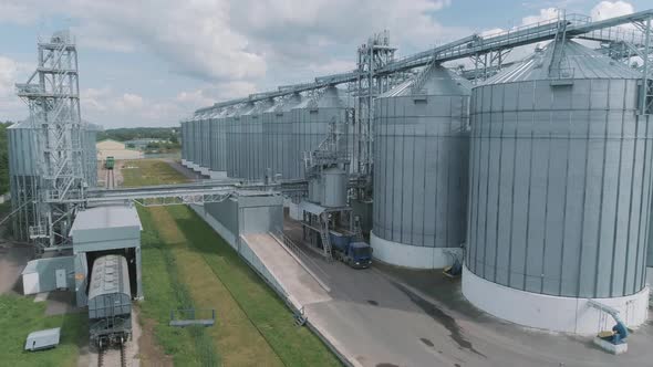
[[[465,297],[520,325],[611,327],[592,298],[638,326],[653,264],[642,75],[573,41],[553,50],[474,88],[433,66],[376,101],[374,255],[434,269],[464,252]]]

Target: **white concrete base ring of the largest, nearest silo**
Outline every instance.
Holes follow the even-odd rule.
[[[614,326],[612,317],[588,305],[587,298],[559,297],[507,287],[463,268],[463,295],[476,307],[505,321],[551,332],[597,335]],[[619,310],[629,327],[649,315],[649,287],[633,295],[594,298]]]

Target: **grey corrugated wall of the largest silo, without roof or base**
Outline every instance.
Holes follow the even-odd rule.
[[[528,292],[644,286],[653,128],[634,80],[479,86],[471,99],[471,272]]]

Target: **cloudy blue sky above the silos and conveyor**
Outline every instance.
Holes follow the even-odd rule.
[[[0,120],[27,117],[14,83],[37,40],[70,29],[82,117],[104,128],[178,126],[196,108],[355,67],[388,30],[398,55],[552,18],[605,19],[650,0],[0,0]],[[519,53],[516,53],[519,56]]]

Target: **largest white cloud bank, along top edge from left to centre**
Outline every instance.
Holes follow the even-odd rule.
[[[253,81],[270,63],[288,67],[333,56],[353,59],[367,33],[392,30],[396,44],[432,45],[466,30],[445,28],[433,14],[450,0],[3,0],[23,21],[63,15],[76,24],[80,45],[142,49],[173,72],[203,81]],[[0,18],[0,22],[10,21]],[[364,31],[362,31],[364,30]],[[363,32],[363,33],[362,33]]]

